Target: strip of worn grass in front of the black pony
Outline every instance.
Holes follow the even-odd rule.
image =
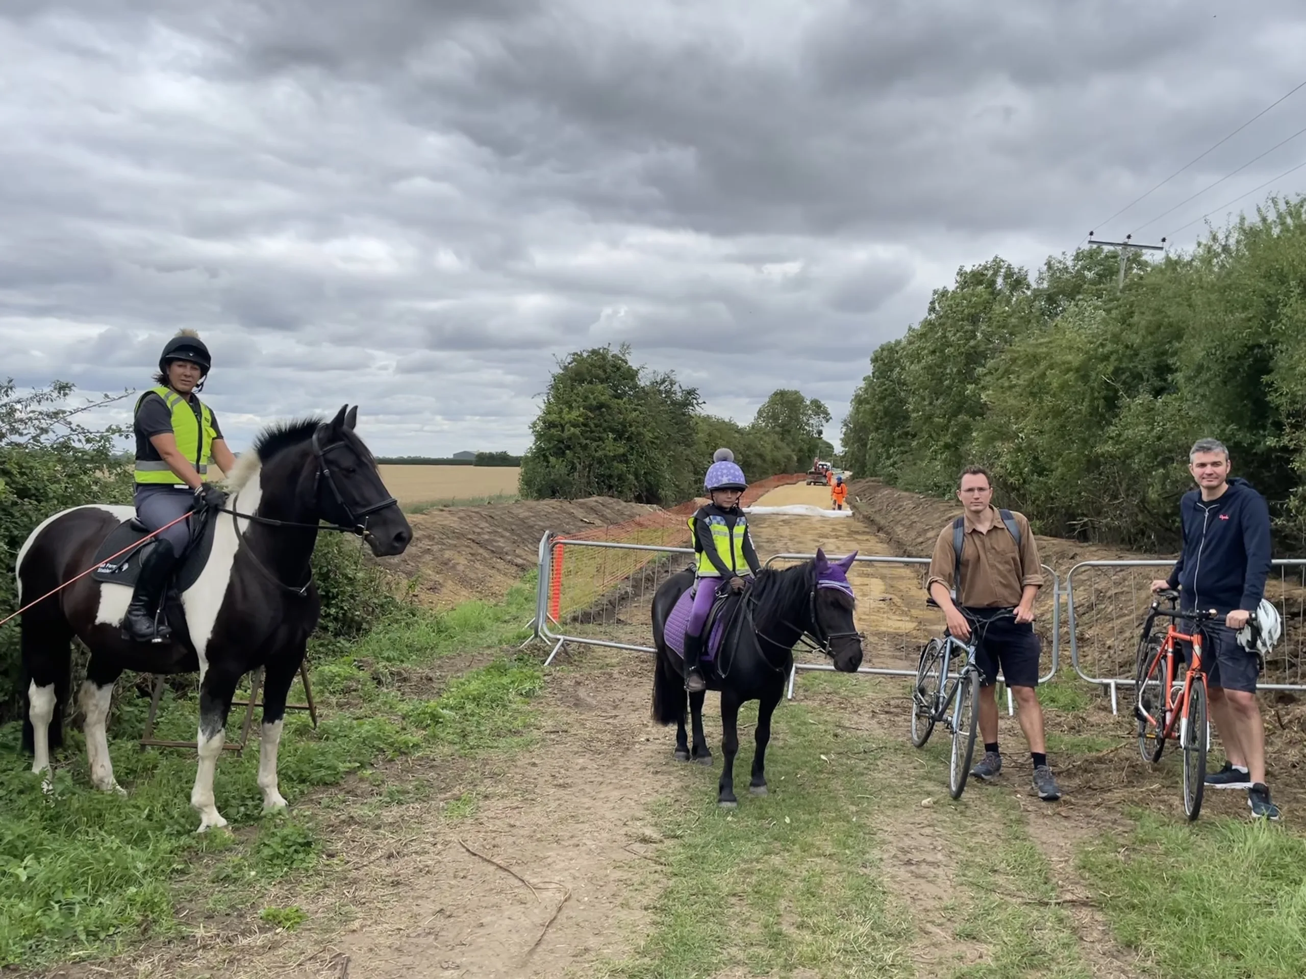
[[[682,769],[683,791],[654,812],[675,842],[649,881],[665,882],[653,928],[609,975],[707,976],[734,963],[781,976],[802,969],[912,974],[901,957],[906,912],[885,897],[874,805],[858,798],[874,752],[844,744],[835,753],[831,728],[801,705],[785,706],[781,718],[784,734],[768,754],[769,798],[747,794],[751,738],[741,738],[734,812],[716,805],[716,771]]]

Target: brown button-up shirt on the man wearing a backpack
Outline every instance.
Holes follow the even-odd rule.
[[[1038,547],[1029,529],[1025,514],[1012,512],[1016,526],[1020,527],[1020,546],[1002,522],[996,506],[993,512],[993,526],[987,533],[978,530],[965,514],[961,539],[961,594],[957,604],[966,608],[1015,608],[1025,585],[1042,585],[1042,567],[1038,561]],[[934,542],[934,555],[930,557],[930,577],[925,590],[942,581],[951,591],[952,576],[956,569],[957,552],[952,548],[952,523],[939,533]]]

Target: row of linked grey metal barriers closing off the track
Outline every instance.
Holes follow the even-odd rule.
[[[632,521],[623,529],[631,539],[652,534],[654,539],[665,534],[682,534],[688,527],[683,517],[675,523],[661,521],[645,525]],[[679,527],[684,527],[680,531]],[[615,530],[615,527],[614,527]],[[602,533],[602,531],[597,531]],[[682,538],[683,539],[683,538]],[[814,555],[780,553],[767,561],[767,567],[784,561],[811,560]],[[693,548],[662,543],[626,543],[586,538],[560,538],[546,533],[539,542],[539,583],[535,597],[534,636],[551,644],[545,664],[554,662],[567,644],[628,649],[654,653],[645,645],[649,634],[649,603],[658,586],[667,577],[692,564]],[[891,557],[859,555],[853,574],[859,569],[919,568],[929,565],[927,557]],[[1275,651],[1266,660],[1266,691],[1306,692],[1306,559],[1280,559],[1273,563],[1273,573],[1267,582],[1266,597],[1272,600],[1284,620],[1284,634]],[[1105,688],[1110,694],[1111,711],[1119,711],[1119,688],[1134,685],[1134,658],[1139,628],[1152,600],[1149,583],[1160,577],[1161,569],[1174,567],[1173,560],[1081,561],[1062,580],[1046,564],[1042,565],[1051,589],[1040,593],[1036,623],[1050,627],[1043,638],[1043,666],[1040,683],[1054,679],[1060,664],[1062,600],[1066,602],[1066,624],[1070,641],[1071,664],[1075,674],[1087,683]],[[925,604],[923,581],[913,574],[912,581],[889,580],[876,576],[879,585],[858,589],[863,600],[858,603],[858,628],[868,637],[868,658],[880,662],[897,659],[899,666],[861,667],[859,674],[879,676],[916,675],[916,659],[921,646],[931,636],[943,630],[943,616]],[[867,591],[871,600],[865,600]],[[919,602],[921,614],[913,614]],[[884,603],[891,611],[878,608]],[[794,697],[799,671],[833,671],[828,662],[803,658],[795,653],[794,668],[788,683],[788,697]],[[999,676],[999,683],[1003,677]],[[1008,713],[1012,709],[1007,693]]]

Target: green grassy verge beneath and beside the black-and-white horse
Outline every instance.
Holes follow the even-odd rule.
[[[48,795],[13,757],[18,726],[0,731],[0,751],[10,756],[0,771],[0,965],[98,958],[183,931],[176,909],[201,880],[210,909],[257,907],[261,885],[319,864],[313,811],[296,807],[315,790],[400,754],[478,754],[528,743],[528,705],[543,683],[534,662],[491,651],[487,664],[439,692],[422,680],[452,653],[500,650],[520,640],[533,602],[528,583],[502,603],[405,612],[358,642],[315,644],[311,679],[323,721],[315,731],[307,715],[287,714],[279,775],[290,813],[263,817],[252,739],[243,757],[229,753],[218,766],[214,790],[231,833],[195,834],[193,752],[138,749],[142,698],[124,697],[110,724],[125,798],[90,787],[80,730],[67,732]],[[232,709],[229,738],[239,738],[242,717]],[[195,701],[168,693],[158,735],[193,739],[195,724]],[[303,920],[298,909],[285,907],[264,909],[263,919],[277,927]]]

